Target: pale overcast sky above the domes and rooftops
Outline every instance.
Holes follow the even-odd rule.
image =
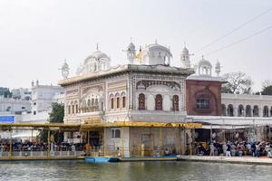
[[[31,81],[57,84],[66,59],[71,75],[83,59],[100,50],[112,64],[126,63],[130,43],[170,46],[171,64],[180,66],[184,42],[189,52],[213,42],[272,7],[271,0],[0,0],[0,87],[30,87]],[[272,11],[240,28],[202,54],[235,43],[272,25]],[[272,29],[204,56],[222,72],[244,71],[254,81],[272,80]]]

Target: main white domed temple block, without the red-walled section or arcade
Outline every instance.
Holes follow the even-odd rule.
[[[194,70],[189,64],[170,66],[170,49],[159,43],[138,53],[130,43],[126,52],[128,64],[112,67],[109,56],[97,47],[79,66],[77,76],[59,81],[66,92],[64,122],[112,123],[90,129],[83,137],[92,147],[126,148],[126,157],[140,150],[143,155],[161,149],[184,152],[185,139],[192,141],[191,129],[182,124],[187,116],[186,79]],[[188,63],[189,57],[183,61]]]

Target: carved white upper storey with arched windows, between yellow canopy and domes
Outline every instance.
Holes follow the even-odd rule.
[[[100,78],[90,74],[82,80],[64,80],[60,83],[66,90],[64,120],[180,121],[186,116],[185,80],[191,72],[125,65]]]

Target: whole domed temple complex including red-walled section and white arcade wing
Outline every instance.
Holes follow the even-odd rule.
[[[191,66],[192,54],[183,47],[174,67],[170,49],[157,42],[138,51],[129,43],[125,52],[127,64],[112,66],[97,46],[72,77],[64,62],[64,123],[85,128],[65,134],[65,141],[132,157],[182,154],[194,140],[268,139],[272,97],[222,94],[219,62],[213,67],[202,56]]]

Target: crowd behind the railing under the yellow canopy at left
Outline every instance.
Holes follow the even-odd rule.
[[[53,148],[53,151],[81,151],[83,150],[83,144],[69,144],[69,143],[53,143],[53,145],[48,146],[47,143],[38,141],[13,141],[12,146],[10,146],[9,140],[0,140],[0,152],[8,152],[12,147],[13,151],[47,151],[49,147]]]

